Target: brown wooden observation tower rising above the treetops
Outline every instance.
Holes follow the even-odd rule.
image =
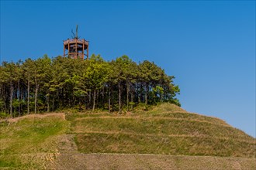
[[[64,57],[70,57],[71,59],[88,59],[88,46],[89,42],[85,39],[78,38],[78,26],[76,28],[76,35],[74,32],[72,39],[64,40]]]

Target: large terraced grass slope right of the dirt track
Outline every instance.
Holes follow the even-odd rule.
[[[138,111],[139,112],[139,111]],[[255,158],[255,139],[226,122],[162,104],[140,114],[67,116],[83,153]]]

